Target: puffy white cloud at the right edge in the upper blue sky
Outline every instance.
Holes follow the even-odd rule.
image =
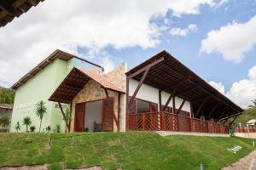
[[[244,54],[253,50],[256,44],[256,16],[245,23],[234,21],[222,26],[219,30],[207,33],[207,38],[201,41],[201,52],[222,54],[223,58],[235,63],[244,59]]]

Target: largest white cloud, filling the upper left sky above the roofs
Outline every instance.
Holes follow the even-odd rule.
[[[0,29],[0,80],[15,82],[34,65],[61,48],[152,48],[160,42],[159,26],[150,20],[168,10],[181,17],[199,14],[214,0],[55,0],[39,3]]]

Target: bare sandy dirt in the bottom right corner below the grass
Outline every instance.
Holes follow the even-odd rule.
[[[222,170],[256,170],[256,150]]]

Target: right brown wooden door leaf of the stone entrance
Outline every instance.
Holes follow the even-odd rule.
[[[102,130],[113,131],[113,98],[102,101]]]

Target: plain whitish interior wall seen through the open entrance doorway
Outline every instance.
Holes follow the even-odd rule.
[[[94,130],[94,122],[102,123],[102,100],[85,104],[84,119],[84,127],[88,127],[90,132]]]

